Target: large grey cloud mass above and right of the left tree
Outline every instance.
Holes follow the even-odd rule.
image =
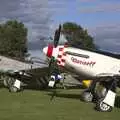
[[[3,0],[0,3],[0,22],[9,19],[22,21],[28,28],[28,45],[32,50],[42,50],[46,44],[40,38],[49,36],[51,14],[48,0]]]

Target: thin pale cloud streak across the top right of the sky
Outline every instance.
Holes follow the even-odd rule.
[[[101,2],[93,6],[81,7],[80,13],[120,12],[120,2]]]

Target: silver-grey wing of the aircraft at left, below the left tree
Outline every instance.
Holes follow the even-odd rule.
[[[41,74],[45,75],[47,73],[48,65],[45,62],[21,62],[14,60],[5,56],[0,56],[0,73],[1,74],[19,74],[27,76],[27,74]],[[46,69],[46,70],[45,70]],[[39,72],[38,72],[39,71]],[[46,72],[44,72],[46,71]]]

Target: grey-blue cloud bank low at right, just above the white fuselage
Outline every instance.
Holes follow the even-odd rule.
[[[120,24],[104,23],[89,29],[101,49],[120,53]]]

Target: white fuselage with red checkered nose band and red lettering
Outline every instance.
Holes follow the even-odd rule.
[[[46,49],[46,50],[45,50]],[[43,51],[49,57],[54,56],[65,68],[88,77],[120,75],[120,59],[83,49],[57,46]],[[51,54],[51,55],[50,55]],[[61,57],[61,58],[60,58]]]

